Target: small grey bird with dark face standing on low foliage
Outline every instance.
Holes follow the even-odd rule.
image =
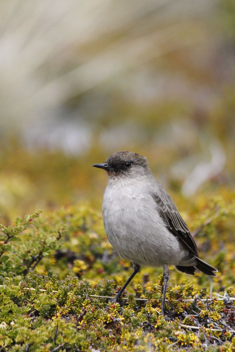
[[[163,267],[161,315],[164,315],[169,265],[194,275],[216,276],[218,270],[199,258],[189,228],[165,188],[156,181],[148,160],[140,154],[119,151],[105,163],[107,187],[103,197],[104,228],[120,258],[133,263],[134,271],[119,290],[117,302],[141,266]]]

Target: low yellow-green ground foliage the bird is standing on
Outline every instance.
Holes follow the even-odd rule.
[[[235,351],[234,203],[217,197],[195,208],[199,252],[218,276],[172,269],[164,318],[161,268],[142,268],[127,300],[93,297],[115,296],[132,270],[113,253],[101,214],[70,207],[43,218],[38,210],[1,225],[1,351]]]

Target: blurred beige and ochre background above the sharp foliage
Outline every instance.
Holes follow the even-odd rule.
[[[119,150],[179,208],[232,198],[234,54],[234,0],[1,0],[0,221],[101,210]]]

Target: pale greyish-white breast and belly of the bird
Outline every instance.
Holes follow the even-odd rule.
[[[107,237],[121,258],[140,265],[177,265],[185,257],[177,238],[167,230],[148,183],[109,183],[103,200]]]

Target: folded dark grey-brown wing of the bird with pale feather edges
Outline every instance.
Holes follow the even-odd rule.
[[[167,228],[175,235],[192,254],[198,257],[198,248],[187,225],[181,218],[175,203],[167,191],[158,183],[157,190],[153,193],[157,210],[164,220]]]

